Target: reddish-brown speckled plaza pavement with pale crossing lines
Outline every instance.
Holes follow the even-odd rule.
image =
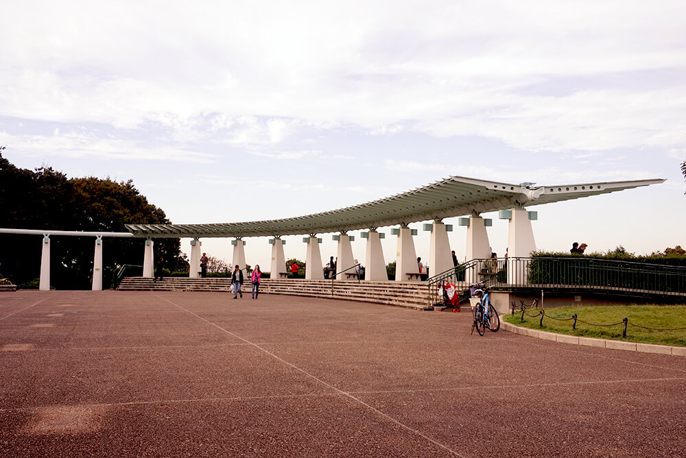
[[[0,293],[0,456],[686,457],[683,357],[232,298]]]

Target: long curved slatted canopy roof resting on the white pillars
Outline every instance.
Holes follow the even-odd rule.
[[[453,176],[374,202],[314,215],[224,224],[127,224],[134,237],[263,237],[347,232],[478,215],[659,184],[664,179],[536,186]]]

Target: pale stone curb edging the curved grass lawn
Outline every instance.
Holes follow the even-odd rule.
[[[634,343],[621,340],[595,339],[593,337],[578,337],[569,334],[549,333],[544,330],[523,328],[522,326],[517,326],[504,320],[500,320],[500,327],[513,334],[525,335],[528,337],[534,337],[535,339],[543,339],[560,343],[571,343],[572,345],[611,348],[613,350],[627,350],[641,353],[671,354],[674,357],[686,357],[686,347],[655,345],[654,343]]]

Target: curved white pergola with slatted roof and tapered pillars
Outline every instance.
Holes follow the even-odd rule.
[[[188,237],[192,239],[190,276],[196,277],[200,265],[200,238],[235,237],[235,240],[231,242],[234,245],[233,263],[244,266],[245,242],[242,239],[267,236],[273,237],[270,239],[272,244],[272,276],[278,276],[285,273],[283,255],[283,243],[285,241],[281,237],[305,234],[308,236],[303,239],[307,243],[305,278],[317,279],[323,278],[322,260],[318,246],[321,239],[318,239],[317,234],[340,233],[333,236],[333,239],[338,241],[338,272],[340,273],[354,265],[351,248],[351,240],[354,240],[354,237],[348,235],[348,232],[366,230],[367,232],[362,232],[362,237],[367,239],[365,278],[366,280],[386,280],[386,263],[380,242],[384,234],[377,232],[377,228],[397,225],[398,228],[391,229],[391,234],[398,236],[396,280],[405,280],[407,273],[417,271],[416,251],[412,239],[416,230],[407,227],[410,223],[433,221],[432,224],[425,224],[424,229],[431,231],[428,264],[431,266],[432,272],[438,274],[453,267],[447,237],[447,231],[452,230],[452,227],[443,224],[442,219],[468,216],[458,220],[458,224],[461,226],[468,226],[466,258],[468,260],[487,258],[490,256],[490,243],[486,227],[490,226],[492,221],[483,219],[480,215],[499,211],[501,219],[510,220],[509,256],[528,256],[530,252],[536,250],[531,221],[537,219],[537,213],[528,211],[528,207],[623,191],[640,186],[649,186],[650,184],[659,184],[664,181],[663,179],[654,179],[534,186],[532,183],[509,184],[453,176],[391,197],[314,215],[226,224],[127,224],[126,228],[129,232],[99,235],[96,245],[96,259],[98,245],[102,250],[102,245],[99,243],[102,237],[144,238],[146,241],[143,276],[152,277],[153,239]],[[1,232],[38,232],[43,234],[45,243],[49,243],[49,235],[57,234],[58,231],[25,230],[22,232],[22,230],[16,229],[0,229]],[[61,232],[60,235],[64,235],[64,231],[59,232]],[[72,232],[71,234],[83,236],[85,233]],[[45,246],[43,264],[45,264]],[[40,288],[49,289],[49,271],[45,285],[43,285],[43,272],[42,267]],[[95,289],[95,272],[93,288]]]

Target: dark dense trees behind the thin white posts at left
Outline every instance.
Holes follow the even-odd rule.
[[[20,169],[2,156],[0,147],[0,228],[126,232],[124,224],[169,224],[164,211],[147,202],[131,180],[67,178],[51,167]],[[38,277],[41,245],[37,236],[0,234],[0,274],[16,284]],[[114,269],[140,265],[144,241],[103,241],[103,286]],[[93,237],[51,237],[51,285],[58,289],[89,289],[93,274]],[[179,239],[159,239],[156,256],[169,265],[186,264]]]

